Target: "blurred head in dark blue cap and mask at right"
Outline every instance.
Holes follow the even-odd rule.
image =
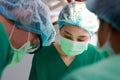
[[[120,53],[120,0],[88,0],[87,8],[100,19],[99,44],[110,55]]]

